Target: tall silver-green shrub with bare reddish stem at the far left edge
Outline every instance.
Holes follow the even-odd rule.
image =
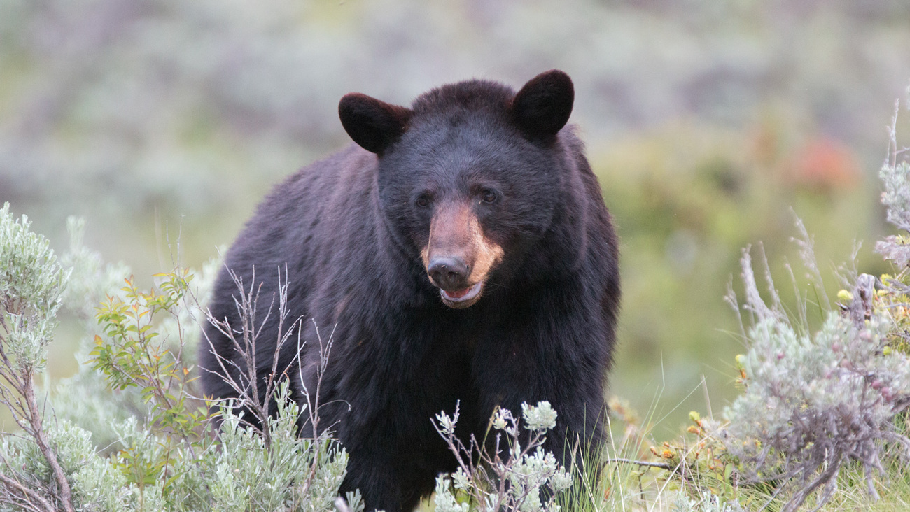
[[[25,436],[13,442],[6,438],[0,452],[5,468],[0,505],[73,510],[60,447],[45,427],[44,400],[35,387],[68,277],[45,237],[31,232],[27,217],[16,221],[5,204],[0,209],[0,403]],[[19,460],[32,464],[16,464]]]

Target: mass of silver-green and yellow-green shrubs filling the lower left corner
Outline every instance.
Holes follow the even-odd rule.
[[[318,421],[285,399],[287,385],[275,388],[282,407],[262,427],[229,412],[261,409],[249,396],[207,419],[193,368],[205,292],[190,271],[140,290],[126,267],[102,268],[81,246],[75,221],[65,270],[29,227],[0,210],[0,401],[22,430],[0,446],[0,509],[334,509],[347,454],[327,431],[298,437],[301,414]],[[64,298],[86,320],[86,358],[48,394],[36,383]],[[362,509],[357,496],[349,502]]]

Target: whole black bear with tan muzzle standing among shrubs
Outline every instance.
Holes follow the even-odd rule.
[[[482,438],[497,406],[518,417],[540,400],[559,414],[545,446],[557,457],[567,439],[601,436],[617,239],[565,127],[573,101],[558,70],[518,93],[444,85],[410,108],[345,95],[341,124],[357,145],[276,186],[227,252],[210,309],[232,325],[227,269],[247,287],[255,279],[267,304],[287,272],[290,320],[307,320],[306,345],[295,335],[277,356],[300,368],[287,373],[296,399],[316,389],[316,330],[323,342],[332,332],[321,425],[349,452],[342,492],[359,488],[368,509],[410,510],[455,469],[430,420],[456,401],[461,437]],[[258,336],[260,378],[276,356],[272,320]],[[204,390],[235,397],[222,377],[243,362],[216,328],[207,338]]]

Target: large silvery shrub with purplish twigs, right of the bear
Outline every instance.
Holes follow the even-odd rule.
[[[811,248],[808,239],[803,244]],[[793,493],[784,510],[821,486],[824,503],[851,462],[864,467],[868,492],[877,497],[874,477],[895,451],[889,447],[910,455],[910,439],[894,422],[910,404],[910,358],[887,346],[894,323],[873,306],[875,278],[859,276],[853,291],[841,294],[842,307],[828,310],[811,333],[788,316],[773,283],[771,304],[763,301],[748,250],[742,267],[743,309],[753,324],[745,333],[749,349],[737,358],[745,389],[724,412],[727,452],[747,481],[776,481]]]

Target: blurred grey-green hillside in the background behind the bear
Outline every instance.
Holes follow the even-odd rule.
[[[784,292],[786,261],[807,281],[795,216],[825,270],[857,241],[859,271],[888,270],[876,174],[910,79],[906,0],[0,0],[0,203],[58,250],[84,216],[86,245],[148,286],[349,144],[342,95],[407,105],[551,68],[575,82],[571,122],[622,236],[611,390],[658,437],[736,393],[723,295],[744,246],[763,243]],[[76,370],[67,326],[54,376]]]

